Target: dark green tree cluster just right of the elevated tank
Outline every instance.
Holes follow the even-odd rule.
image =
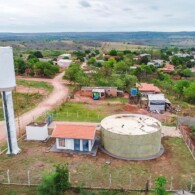
[[[15,71],[19,75],[43,76],[53,77],[59,72],[59,67],[52,64],[52,62],[41,62],[38,57],[41,57],[41,52],[37,51],[30,54],[27,60],[16,58]]]

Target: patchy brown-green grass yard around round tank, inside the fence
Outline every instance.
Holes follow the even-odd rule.
[[[118,160],[101,151],[98,151],[96,157],[49,152],[54,142],[54,139],[47,143],[21,140],[20,154],[13,157],[6,154],[1,156],[0,182],[7,181],[6,173],[9,169],[11,183],[27,183],[27,172],[30,171],[31,183],[38,184],[41,175],[51,172],[53,165],[66,162],[69,164],[73,186],[107,188],[110,174],[111,187],[132,190],[144,189],[148,178],[151,178],[153,188],[155,178],[160,175],[167,178],[167,189],[170,189],[171,180],[172,189],[189,189],[191,178],[195,180],[194,160],[180,138],[164,137],[162,142],[165,153],[158,159],[150,161]]]

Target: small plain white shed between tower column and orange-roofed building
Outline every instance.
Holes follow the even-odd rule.
[[[47,123],[30,123],[26,126],[26,139],[44,141],[48,138]]]

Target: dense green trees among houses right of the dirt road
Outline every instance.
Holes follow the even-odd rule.
[[[188,103],[195,102],[194,78],[189,68],[195,66],[195,61],[190,49],[165,48],[137,51],[110,50],[103,52],[87,50],[76,52],[87,59],[87,71],[80,64],[72,64],[65,72],[65,79],[81,86],[114,86],[129,92],[137,82],[149,82],[159,86],[163,92],[173,94],[178,100]],[[135,56],[146,53],[147,55],[135,59]],[[173,53],[179,53],[180,57]],[[183,57],[182,55],[187,57]],[[185,56],[184,55],[184,56]],[[181,57],[182,56],[182,57]],[[99,61],[99,59],[101,59]],[[147,65],[149,61],[163,59],[160,66]],[[169,59],[171,61],[169,61]],[[161,70],[167,63],[175,65],[175,69],[163,73]],[[174,77],[185,80],[175,80]],[[188,80],[190,79],[190,80]],[[176,95],[177,94],[177,95]]]

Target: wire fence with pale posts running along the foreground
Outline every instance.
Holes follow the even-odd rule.
[[[119,180],[120,178],[120,180]],[[16,185],[39,185],[41,183],[41,174],[38,171],[23,170],[16,175],[13,170],[7,170],[0,173],[1,184],[16,184]],[[83,187],[91,189],[124,189],[132,191],[143,191],[145,189],[154,190],[155,177],[146,174],[136,175],[132,173],[93,173],[87,170],[86,172],[69,172],[69,181],[73,187]],[[178,180],[177,180],[178,181]],[[184,189],[193,191],[195,187],[195,177],[185,178],[181,182],[176,182],[174,176],[167,178],[166,190],[177,191]]]

